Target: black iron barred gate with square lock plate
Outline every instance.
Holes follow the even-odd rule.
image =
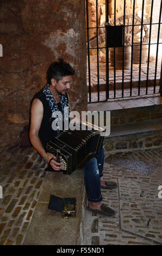
[[[105,8],[102,24],[101,2]],[[159,93],[162,96],[162,0],[140,1],[138,14],[138,0],[129,2],[130,14],[126,0],[119,14],[118,0],[105,0],[105,6],[101,0],[85,0],[89,103]],[[96,22],[91,26],[92,6]]]

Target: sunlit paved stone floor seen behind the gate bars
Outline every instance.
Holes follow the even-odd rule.
[[[106,72],[105,72],[105,63],[99,61],[99,100],[97,95],[97,56],[90,56],[90,72],[91,72],[91,102],[104,101],[106,100],[105,93],[105,81],[106,81]],[[148,95],[154,94],[154,79],[155,79],[155,61],[149,63],[149,75],[148,75]],[[157,76],[156,76],[156,87],[155,93],[159,93],[159,81],[161,73],[161,59],[158,59],[157,64]],[[146,78],[147,78],[147,63],[141,64],[141,74],[140,74],[140,95],[146,95]],[[139,64],[133,64],[132,72],[132,97],[138,96],[138,83],[139,83]],[[122,70],[116,70],[115,73],[115,83],[116,83],[116,95],[114,95],[114,67],[109,63],[109,99],[121,98],[122,97]],[[89,74],[87,69],[87,85],[89,89]],[[123,97],[130,96],[130,70],[124,70],[124,95]],[[90,97],[88,94],[88,102]]]

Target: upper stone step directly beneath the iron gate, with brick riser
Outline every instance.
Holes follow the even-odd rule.
[[[111,125],[135,124],[162,118],[161,104],[162,97],[149,96],[89,103],[88,111],[110,111]]]

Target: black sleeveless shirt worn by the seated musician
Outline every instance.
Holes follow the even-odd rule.
[[[50,139],[57,136],[57,131],[52,129],[52,122],[54,118],[52,118],[52,111],[51,111],[51,108],[49,107],[48,101],[46,100],[45,94],[40,92],[35,95],[35,98],[39,99],[43,104],[43,118],[42,118],[42,123],[41,123],[38,134],[39,134],[40,141],[43,145],[43,148],[45,148],[46,143]],[[59,111],[63,113],[61,103],[59,102],[57,105],[58,105]],[[64,127],[64,123],[63,123],[63,127]]]

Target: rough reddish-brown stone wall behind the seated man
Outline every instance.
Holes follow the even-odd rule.
[[[1,145],[19,140],[29,123],[30,101],[46,83],[46,71],[64,58],[76,70],[71,108],[87,106],[85,8],[82,0],[1,0]]]

